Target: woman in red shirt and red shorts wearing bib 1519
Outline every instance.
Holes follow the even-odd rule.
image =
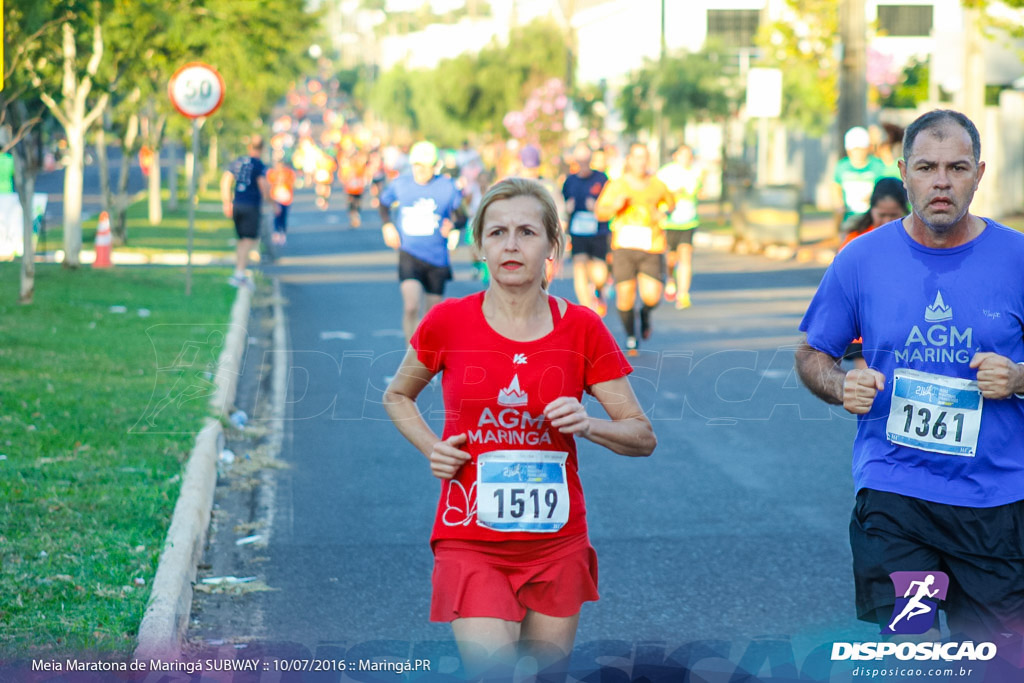
[[[497,183],[472,231],[487,290],[430,310],[384,404],[441,479],[431,621],[452,623],[468,673],[522,654],[543,669],[568,656],[581,605],[598,598],[575,437],[625,456],[657,441],[601,318],[547,292],[564,242],[544,186]],[[416,405],[438,373],[440,438]],[[610,420],[587,413],[584,391]]]

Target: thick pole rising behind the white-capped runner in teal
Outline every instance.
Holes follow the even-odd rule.
[[[837,148],[842,157],[846,131],[867,124],[867,22],[864,0],[842,0],[839,11],[843,58],[839,77]]]

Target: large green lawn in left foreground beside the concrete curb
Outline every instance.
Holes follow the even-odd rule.
[[[19,306],[18,267],[0,263],[0,660],[127,654],[234,290],[225,269],[186,298],[181,268],[42,265]]]

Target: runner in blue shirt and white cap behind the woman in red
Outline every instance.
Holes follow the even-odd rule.
[[[426,140],[417,142],[409,152],[409,163],[412,172],[395,178],[380,197],[384,244],[398,251],[407,342],[423,314],[441,300],[444,283],[452,280],[447,236],[452,212],[462,204],[455,182],[435,173],[437,147]]]

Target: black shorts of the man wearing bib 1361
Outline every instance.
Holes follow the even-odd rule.
[[[940,456],[953,457],[953,456]],[[892,571],[943,571],[953,636],[1024,634],[1024,501],[967,508],[862,488],[850,519],[857,616],[888,625]]]

